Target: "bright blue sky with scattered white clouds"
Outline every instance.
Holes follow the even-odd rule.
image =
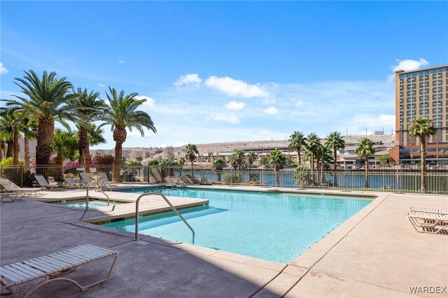
[[[1,1],[0,95],[23,71],[138,92],[125,146],[394,128],[393,70],[448,63],[448,2]],[[108,143],[113,148],[110,127]]]

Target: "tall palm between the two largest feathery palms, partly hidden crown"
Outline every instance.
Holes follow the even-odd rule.
[[[99,99],[99,92],[87,92],[87,89],[74,91],[75,97],[71,104],[79,106],[79,113],[83,113],[85,119],[77,124],[79,139],[79,157],[78,162],[81,166],[85,166],[85,170],[89,171],[90,150],[89,150],[89,128],[90,123],[98,118],[98,115],[104,111],[105,104]]]

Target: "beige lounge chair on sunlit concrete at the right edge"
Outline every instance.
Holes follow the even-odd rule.
[[[408,212],[407,218],[419,233],[448,234],[448,215]]]

